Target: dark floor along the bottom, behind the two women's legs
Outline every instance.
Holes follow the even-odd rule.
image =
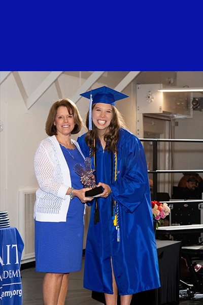
[[[100,303],[91,297],[91,291],[83,288],[83,267],[79,272],[70,273],[69,291],[67,292],[65,305],[99,305]],[[23,305],[43,305],[42,281],[44,273],[36,272],[35,267],[22,268]],[[183,296],[186,290],[180,290]],[[193,299],[180,298],[180,305],[199,305],[203,302],[203,294],[197,294]],[[150,304],[149,304],[150,305]],[[166,305],[166,304],[165,304]],[[170,305],[170,304],[167,304]]]

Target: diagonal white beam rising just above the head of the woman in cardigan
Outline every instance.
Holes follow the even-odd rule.
[[[27,99],[27,109],[31,108],[63,71],[52,71]]]

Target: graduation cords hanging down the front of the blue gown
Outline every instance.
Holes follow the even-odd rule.
[[[96,179],[96,146],[95,145],[96,145],[96,143],[95,143],[95,139],[94,139],[95,150],[94,150],[93,159],[94,159],[95,179]],[[113,156],[114,156],[114,158],[113,158]],[[117,179],[117,152],[114,154],[111,152],[111,180],[112,180],[112,182],[113,182],[113,164],[114,164],[114,168],[115,168],[114,181],[116,181],[116,179]],[[117,230],[117,241],[120,241],[118,203],[115,200],[113,200],[113,198],[111,200],[111,216],[112,216],[113,224]],[[98,199],[95,198],[94,224],[97,224],[97,222],[99,222],[99,209],[98,209]]]

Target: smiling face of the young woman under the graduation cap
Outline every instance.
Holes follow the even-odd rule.
[[[110,104],[96,103],[92,109],[92,121],[98,130],[106,131],[113,117]]]

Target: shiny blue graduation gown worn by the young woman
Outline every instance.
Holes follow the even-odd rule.
[[[97,199],[97,224],[94,224],[95,199],[91,201],[84,288],[113,293],[112,258],[118,292],[126,295],[158,288],[160,282],[144,149],[140,140],[128,130],[121,128],[119,134],[116,181],[111,179],[111,154],[103,151],[101,145],[96,153],[97,183],[110,185],[112,193],[108,198]],[[78,143],[85,157],[89,157],[84,137],[79,137]],[[114,169],[113,166],[113,172]],[[112,197],[119,208],[120,241],[117,241],[111,215]]]

